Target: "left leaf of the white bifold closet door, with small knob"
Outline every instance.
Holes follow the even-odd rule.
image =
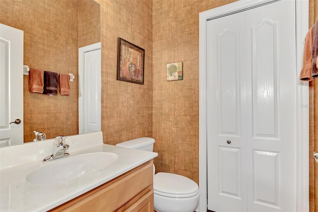
[[[244,12],[207,22],[208,209],[216,212],[247,209],[244,22]]]

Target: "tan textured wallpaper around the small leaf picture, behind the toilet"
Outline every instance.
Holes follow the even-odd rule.
[[[234,0],[153,1],[153,137],[157,172],[199,181],[199,12]],[[166,64],[183,62],[183,80]]]

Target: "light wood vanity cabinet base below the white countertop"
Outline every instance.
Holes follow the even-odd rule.
[[[154,212],[153,161],[51,210],[62,211]]]

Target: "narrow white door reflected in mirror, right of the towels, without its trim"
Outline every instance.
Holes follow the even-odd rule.
[[[101,50],[84,53],[84,133],[101,131]]]

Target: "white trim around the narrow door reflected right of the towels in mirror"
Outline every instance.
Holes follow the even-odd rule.
[[[84,53],[101,49],[101,42],[79,48],[79,134],[84,133]]]

